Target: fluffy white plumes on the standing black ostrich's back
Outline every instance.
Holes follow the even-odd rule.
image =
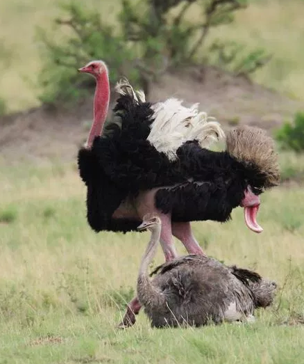
[[[197,140],[202,148],[208,148],[225,136],[219,122],[208,118],[207,113],[199,113],[198,106],[185,107],[174,98],[153,106],[155,120],[148,141],[171,161],[177,158],[176,150],[186,141]]]

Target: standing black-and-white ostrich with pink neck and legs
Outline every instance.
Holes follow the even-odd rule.
[[[108,69],[92,61],[80,69],[96,79],[94,122],[87,145],[78,152],[87,185],[87,220],[96,232],[128,232],[147,213],[162,221],[160,244],[167,261],[176,258],[173,236],[188,253],[203,254],[191,221],[225,222],[244,207],[245,222],[261,232],[256,216],[260,194],[276,186],[280,173],[273,140],[262,129],[237,127],[226,136],[226,150],[206,149],[223,135],[196,106],[176,99],[151,104],[122,81],[108,127]],[[128,305],[123,326],[135,323],[140,303]]]

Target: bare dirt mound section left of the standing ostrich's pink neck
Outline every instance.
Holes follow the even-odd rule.
[[[85,140],[85,120],[92,118],[91,102],[76,104],[71,111],[39,108],[0,120],[0,154],[10,161],[20,159],[76,158]]]

